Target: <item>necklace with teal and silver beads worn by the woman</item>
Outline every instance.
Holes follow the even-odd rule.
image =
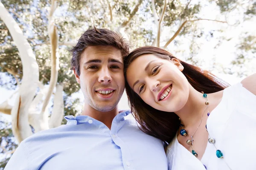
[[[210,113],[209,113],[209,109],[208,109],[209,102],[208,102],[208,99],[207,99],[207,94],[204,94],[203,91],[202,91],[201,93],[203,94],[203,97],[204,97],[205,100],[206,100],[205,105],[207,105],[207,108],[204,110],[204,112],[205,112],[206,110],[208,110],[207,116],[209,116]],[[204,116],[204,112],[203,112],[203,114],[202,114],[202,119],[203,119],[203,116]],[[202,123],[202,119],[201,119],[201,122],[200,122],[198,128],[200,127],[200,125],[201,125],[201,123]],[[184,126],[184,125],[180,122],[180,127],[183,127],[183,126]],[[205,127],[206,127],[206,130],[207,130],[207,125],[205,125]],[[196,133],[196,131],[198,130],[198,128],[195,130],[195,133]],[[207,130],[207,132],[208,132],[208,130]],[[189,144],[189,146],[192,148],[192,154],[193,154],[195,157],[198,157],[198,154],[195,152],[195,150],[194,150],[193,147],[192,147],[193,142],[194,142],[194,135],[195,135],[195,133],[191,136],[191,135],[189,135],[189,133],[187,133],[187,131],[186,131],[185,129],[181,129],[181,130],[180,130],[180,135],[186,137],[186,139],[187,139],[186,143]],[[187,135],[191,136],[191,140],[189,140],[189,139],[187,138]],[[215,149],[216,149],[216,156],[217,156],[218,158],[220,158],[220,159],[224,159],[223,153],[221,152],[221,150],[218,150],[218,149],[217,149],[217,147],[215,146],[215,139],[211,138],[209,132],[208,132],[208,136],[209,136],[208,142],[209,142],[210,144],[213,144],[213,146],[214,146]],[[226,162],[225,162],[225,163],[226,163]],[[226,163],[226,164],[227,164],[227,163]],[[227,167],[229,167],[228,164],[227,164]],[[229,169],[231,170],[230,167],[229,167]]]

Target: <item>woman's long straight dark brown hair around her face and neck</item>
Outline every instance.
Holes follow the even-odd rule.
[[[171,53],[161,48],[151,46],[137,48],[124,59],[125,79],[127,68],[131,62],[144,54],[154,54],[157,57],[168,60],[176,58]],[[221,91],[229,86],[227,82],[219,79],[209,71],[190,65],[180,59],[177,60],[183,65],[184,69],[182,73],[195,90],[210,94]],[[174,112],[159,111],[146,104],[140,96],[131,89],[127,81],[125,81],[125,90],[131,111],[139,123],[140,129],[158,139],[168,143],[171,142],[180,125],[178,116]]]

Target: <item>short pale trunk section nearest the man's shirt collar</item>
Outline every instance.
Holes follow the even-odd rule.
[[[62,83],[56,86],[52,115],[49,119],[49,128],[54,128],[61,125],[64,116],[64,100],[62,95],[63,88],[64,85]]]

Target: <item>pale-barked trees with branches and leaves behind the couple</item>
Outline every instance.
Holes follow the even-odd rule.
[[[230,42],[225,30],[256,15],[256,3],[250,0],[2,0],[0,4],[0,85],[15,89],[18,96],[14,106],[8,99],[0,104],[0,112],[12,115],[12,126],[1,127],[12,147],[1,144],[2,153],[17,147],[15,138],[19,143],[33,132],[65,123],[64,115],[79,113],[79,99],[72,98],[79,85],[70,70],[68,49],[88,28],[109,28],[128,39],[132,48],[154,45],[204,66],[197,57],[203,43],[215,39],[218,48]],[[218,16],[203,17],[206,6],[216,8]],[[242,17],[233,20],[231,14]],[[201,23],[220,28],[205,31]],[[238,69],[255,58],[255,36],[245,32],[239,38],[232,67],[214,62],[215,68],[227,74],[250,74],[241,75]]]

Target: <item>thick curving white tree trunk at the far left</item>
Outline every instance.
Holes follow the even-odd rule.
[[[28,110],[38,87],[39,68],[35,55],[23,32],[0,1],[0,17],[12,35],[23,65],[22,83],[15,105],[12,108],[12,132],[18,142],[32,135],[28,121]]]

